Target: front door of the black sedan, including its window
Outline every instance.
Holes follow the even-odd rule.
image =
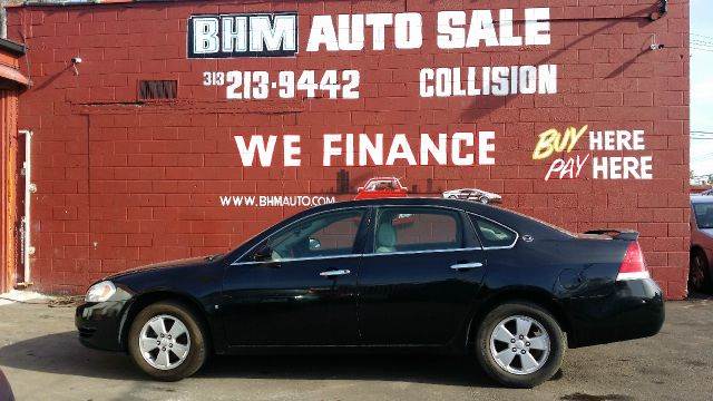
[[[227,343],[355,344],[356,271],[369,208],[320,213],[271,235],[227,267]]]

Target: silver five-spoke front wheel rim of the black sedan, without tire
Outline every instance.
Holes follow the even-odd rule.
[[[188,356],[191,334],[177,317],[158,315],[144,324],[138,348],[149,365],[160,370],[174,369]]]

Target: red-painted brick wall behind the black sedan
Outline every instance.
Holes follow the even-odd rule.
[[[549,7],[551,43],[442,50],[441,10]],[[654,277],[685,296],[688,263],[688,9],[651,22],[654,0],[502,1],[180,1],[10,11],[9,35],[27,41],[20,127],[36,133],[33,278],[49,292],[81,292],[108,273],[169,258],[222,252],[291,207],[222,207],[219,195],[331,194],[345,168],[355,188],[397,176],[411,192],[479,187],[504,205],[573,231],[602,226],[642,233]],[[300,52],[289,58],[186,58],[187,19],[196,13],[296,11]],[[423,46],[394,50],[306,52],[312,16],[420,12]],[[521,31],[516,25],[516,30]],[[388,32],[391,32],[388,30]],[[648,49],[652,36],[664,43]],[[77,72],[72,57],[84,62]],[[558,66],[557,94],[477,99],[419,98],[424,67]],[[360,98],[226,100],[202,85],[203,71],[358,69]],[[137,104],[140,79],[175,79],[178,100]],[[547,129],[642,129],[652,180],[545,180],[553,160],[533,160]],[[344,167],[321,164],[325,133],[491,130],[492,166]],[[234,135],[302,136],[302,167],[243,167]],[[588,140],[574,154],[587,154]],[[607,155],[625,155],[626,151]],[[603,155],[606,156],[606,155]],[[416,186],[416,187],[414,187]],[[416,189],[416,190],[414,190]]]

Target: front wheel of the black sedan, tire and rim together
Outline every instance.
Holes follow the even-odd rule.
[[[154,330],[162,325],[163,333]],[[160,381],[178,381],[194,374],[207,355],[205,330],[191,309],[178,302],[158,302],[141,310],[127,341],[134,363]]]

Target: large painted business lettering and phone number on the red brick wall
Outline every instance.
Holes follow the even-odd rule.
[[[424,21],[426,18],[436,20]],[[195,59],[294,57],[300,52],[297,21],[295,12],[193,16],[188,23],[188,56]],[[521,35],[516,35],[515,25],[520,22],[524,26],[519,30]],[[427,30],[424,27],[433,28]],[[419,49],[428,36],[432,36],[429,40],[434,39],[438,49],[442,50],[550,45],[549,8],[314,16],[309,32],[306,55]],[[371,40],[367,39],[368,33]],[[557,94],[557,65],[426,66],[418,69],[414,80],[418,80],[421,98],[548,96]],[[316,97],[349,101],[360,98],[361,81],[361,71],[355,69],[203,72],[205,86],[224,87],[226,100],[240,101]],[[533,151],[534,160],[547,159],[555,153],[569,154],[587,126],[559,129],[551,128],[539,135]],[[413,144],[417,137],[417,144]],[[271,133],[235,135],[234,138],[244,166],[301,165],[299,135]],[[325,133],[322,139],[323,166],[496,164],[494,131],[397,133],[389,136]],[[277,149],[282,157],[274,156]],[[587,153],[555,158],[547,168],[545,180],[578,177],[587,163],[595,179],[653,177],[651,155],[641,154],[645,151],[642,130],[608,127],[607,130],[592,130],[588,150],[613,154],[593,156]],[[622,150],[636,154],[622,156]]]

